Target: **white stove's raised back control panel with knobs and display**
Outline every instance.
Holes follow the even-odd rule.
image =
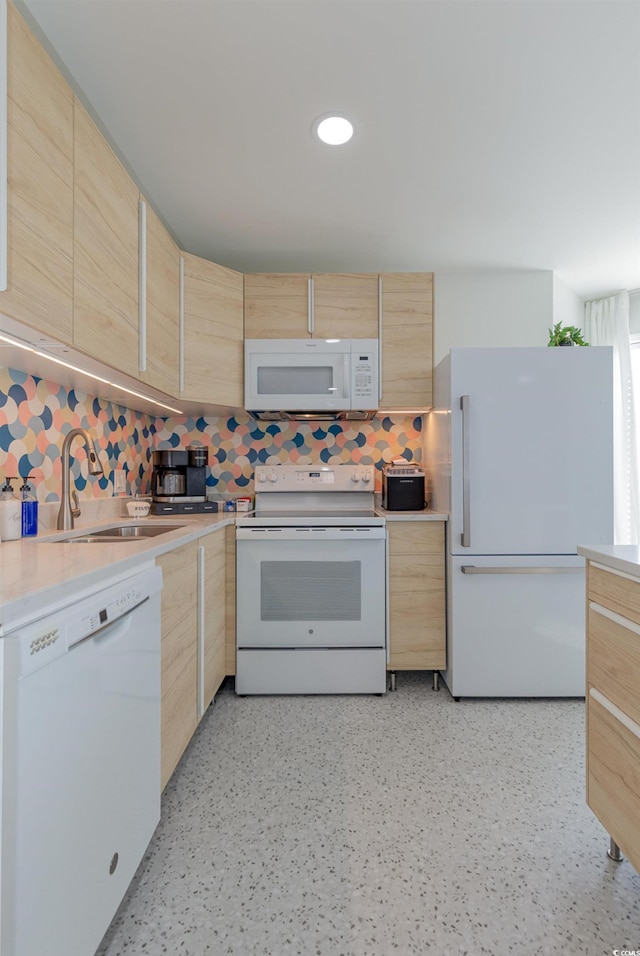
[[[373,465],[256,465],[256,491],[370,491]]]

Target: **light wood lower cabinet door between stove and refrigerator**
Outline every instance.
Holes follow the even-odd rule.
[[[446,666],[444,522],[389,521],[390,670]]]

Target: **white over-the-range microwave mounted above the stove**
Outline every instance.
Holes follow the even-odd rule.
[[[245,339],[245,408],[255,418],[369,419],[377,339]]]

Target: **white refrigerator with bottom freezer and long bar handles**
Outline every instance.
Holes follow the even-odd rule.
[[[426,418],[454,697],[581,697],[578,545],[613,542],[608,347],[452,349]]]

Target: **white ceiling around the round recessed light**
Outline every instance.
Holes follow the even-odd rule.
[[[637,0],[18,6],[190,252],[640,286]],[[329,110],[348,146],[312,138]]]

